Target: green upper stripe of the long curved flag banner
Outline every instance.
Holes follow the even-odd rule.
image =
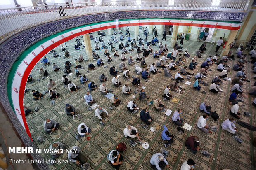
[[[174,20],[194,20],[194,21],[218,21],[218,20],[205,20],[205,19],[184,19],[184,18],[137,18],[137,19],[119,19],[117,22],[119,21],[130,21],[130,20],[138,20],[138,19],[141,19],[141,20],[147,20],[147,19],[174,19]],[[16,59],[16,61],[13,63],[12,65],[12,68],[10,69],[10,72],[9,72],[9,75],[7,77],[7,96],[8,96],[8,99],[9,99],[9,102],[10,102],[10,105],[14,111],[14,106],[13,106],[13,103],[12,103],[12,82],[13,82],[13,79],[14,79],[14,75],[17,71],[17,68],[19,67],[21,61],[24,60],[24,58],[29,54],[31,53],[31,51],[33,51],[34,49],[36,49],[38,46],[40,46],[41,44],[47,42],[48,40],[51,40],[53,39],[54,37],[57,37],[59,35],[62,35],[64,33],[67,33],[71,30],[75,30],[75,29],[78,29],[78,28],[83,28],[85,26],[93,26],[93,25],[97,25],[97,24],[102,24],[102,23],[109,23],[109,22],[116,22],[116,20],[109,20],[109,21],[101,21],[101,22],[97,22],[97,23],[90,23],[90,24],[84,24],[82,26],[78,26],[78,27],[73,27],[73,28],[69,28],[69,29],[66,29],[66,30],[63,30],[61,32],[58,32],[58,33],[55,33],[53,35],[50,35],[49,37],[46,37],[42,40],[39,40],[38,42],[36,42],[35,44],[31,45],[30,47],[28,47],[27,49],[25,49],[19,56],[18,58]],[[220,21],[218,21],[220,22]],[[242,23],[242,22],[239,22],[239,21],[221,21],[221,22],[227,22],[227,23]],[[15,111],[14,111],[15,113]]]

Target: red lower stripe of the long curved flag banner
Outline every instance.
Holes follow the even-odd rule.
[[[28,76],[30,75],[30,73],[33,70],[36,63],[43,56],[45,56],[45,54],[47,54],[49,51],[51,51],[55,47],[59,46],[60,44],[63,44],[64,42],[66,42],[68,40],[71,40],[72,38],[75,38],[79,35],[88,34],[88,33],[91,33],[91,32],[98,31],[98,30],[105,30],[105,29],[108,29],[108,28],[116,28],[116,27],[121,27],[121,26],[139,26],[139,25],[175,25],[175,26],[197,26],[197,27],[203,27],[204,26],[204,27],[209,27],[209,28],[221,28],[221,29],[228,29],[228,30],[239,30],[239,28],[240,28],[240,26],[239,27],[231,27],[231,26],[209,25],[209,24],[199,24],[199,23],[174,23],[174,22],[142,22],[142,23],[139,23],[139,22],[137,22],[137,23],[117,24],[117,25],[113,24],[113,25],[109,25],[109,26],[92,28],[92,29],[84,30],[84,31],[81,31],[81,32],[78,32],[78,33],[73,33],[72,35],[69,35],[68,37],[62,38],[61,40],[51,44],[49,47],[43,49],[43,51],[41,51],[38,55],[36,55],[35,58],[33,58],[33,60],[31,61],[31,63],[29,63],[29,65],[26,68],[26,70],[24,72],[24,75],[21,79],[21,84],[20,84],[20,88],[19,88],[19,107],[20,107],[21,116],[22,116],[22,119],[23,119],[23,123],[24,123],[25,129],[26,129],[26,132],[28,133],[28,136],[30,137],[30,139],[32,141],[33,141],[33,139],[31,138],[31,133],[29,131],[28,123],[26,121],[25,112],[24,112],[24,109],[23,109],[23,104],[24,104],[23,99],[24,99],[24,91],[25,91]],[[38,46],[38,47],[40,47],[40,46]]]

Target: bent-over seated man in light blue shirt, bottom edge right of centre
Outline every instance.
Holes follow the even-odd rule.
[[[150,166],[154,170],[163,170],[165,166],[167,167],[167,169],[170,167],[161,153],[156,153],[152,155],[150,159]]]

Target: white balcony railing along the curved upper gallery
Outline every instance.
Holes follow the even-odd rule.
[[[246,12],[249,0],[111,0],[0,9],[0,41],[33,26],[86,14],[134,10]]]

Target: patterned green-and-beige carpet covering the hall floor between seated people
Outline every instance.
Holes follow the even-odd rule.
[[[105,32],[107,33],[107,30],[105,30]],[[93,36],[96,37],[96,34],[97,33],[93,33]],[[119,36],[120,35],[117,35],[117,37]],[[133,38],[133,33],[131,33],[131,37]],[[142,37],[144,38],[144,36]],[[109,38],[110,36],[104,37],[106,44]],[[161,38],[162,36],[159,36],[159,40],[161,40]],[[83,38],[81,38],[81,42],[82,39]],[[152,35],[148,37],[148,40],[151,39]],[[171,37],[167,37],[167,41],[163,41],[163,44],[168,44],[169,50],[172,50],[173,48],[170,48],[170,42]],[[64,68],[65,61],[69,60],[72,63],[71,70],[72,72],[74,72],[73,63],[75,58],[78,58],[80,54],[84,58],[86,58],[85,49],[75,50],[73,48],[75,43],[75,40],[69,40],[68,42],[66,42],[67,49],[69,50],[71,55],[71,58],[69,59],[63,59],[64,52],[61,51],[60,47],[57,47],[55,50],[61,57],[53,58],[52,53],[47,54],[46,56],[51,63],[57,63],[61,70]],[[91,43],[92,47],[94,48],[95,43],[93,41],[91,41]],[[123,43],[125,43],[125,41],[123,41]],[[194,57],[196,50],[199,49],[201,44],[202,42],[185,40],[183,44],[183,53],[185,52],[185,50],[188,50],[190,52],[190,56]],[[116,49],[118,49],[118,44],[114,44],[114,46],[116,47]],[[204,59],[199,58],[197,60],[199,65],[197,69],[194,70],[195,74],[201,69],[201,63],[206,60],[206,56],[215,55],[214,51],[216,46],[207,43],[206,48],[207,50],[203,53]],[[110,48],[108,49],[110,51]],[[159,50],[158,46],[154,46],[153,49]],[[120,51],[121,50],[119,50],[119,53]],[[235,49],[232,49],[232,51],[233,53],[235,53]],[[220,54],[220,52],[221,49],[218,54]],[[35,141],[35,145],[38,148],[48,148],[50,144],[55,141],[62,142],[69,148],[76,145],[81,148],[81,151],[85,155],[87,162],[92,165],[92,169],[109,170],[112,168],[107,162],[107,154],[111,149],[114,149],[116,147],[116,144],[118,144],[119,142],[123,142],[126,144],[127,149],[122,153],[122,155],[124,156],[124,160],[123,164],[121,165],[121,169],[149,170],[151,169],[149,161],[152,154],[156,152],[161,152],[161,148],[164,147],[164,141],[161,139],[162,129],[156,130],[154,133],[152,133],[150,131],[150,126],[147,129],[141,127],[142,121],[140,120],[139,114],[132,114],[126,109],[127,103],[130,100],[133,100],[132,95],[123,95],[121,93],[121,88],[114,87],[111,82],[112,75],[109,74],[109,68],[113,65],[118,68],[121,60],[119,58],[113,58],[114,63],[107,64],[106,58],[103,56],[104,51],[101,50],[97,51],[96,53],[100,55],[100,57],[104,60],[105,65],[108,65],[108,67],[98,68],[96,66],[96,70],[87,73],[86,71],[88,68],[88,64],[94,63],[94,65],[96,65],[96,61],[84,61],[83,63],[81,63],[81,65],[85,69],[80,69],[81,74],[86,75],[86,77],[90,81],[92,80],[96,84],[99,84],[99,75],[105,73],[105,75],[109,79],[109,81],[106,83],[107,87],[113,90],[113,94],[119,95],[119,98],[122,100],[123,104],[119,107],[114,108],[114,110],[110,110],[109,106],[111,106],[111,104],[108,98],[102,96],[99,90],[91,93],[92,97],[96,100],[96,102],[104,109],[107,109],[110,114],[109,122],[107,122],[105,126],[102,126],[100,125],[100,121],[95,118],[94,111],[88,111],[88,106],[84,103],[85,100],[83,96],[88,89],[87,84],[85,84],[85,88],[79,89],[76,93],[70,93],[67,88],[64,88],[62,85],[60,85],[63,75],[62,71],[54,72],[52,70],[52,65],[46,66],[45,69],[49,72],[49,78],[41,80],[40,82],[36,82],[36,78],[38,78],[40,74],[38,70],[33,70],[31,72],[31,75],[33,76],[34,83],[27,83],[27,88],[30,88],[31,90],[35,89],[36,91],[42,93],[42,91],[46,89],[46,85],[49,79],[53,79],[55,82],[57,82],[57,93],[60,94],[60,97],[55,100],[55,105],[51,105],[51,100],[48,95],[46,95],[46,97],[40,101],[33,101],[31,90],[28,91],[24,96],[24,104],[26,106],[29,106],[31,109],[34,109],[35,107],[40,107],[40,110],[38,112],[34,112],[33,114],[26,117],[32,137]],[[136,52],[132,52],[131,54],[127,54],[126,56],[133,56],[133,59],[136,59],[136,55]],[[113,56],[113,52],[111,52],[111,56]],[[190,63],[191,59],[188,60],[189,61],[185,63],[185,65],[187,66]],[[148,65],[151,65],[153,62],[156,63],[157,61],[158,60],[154,59],[152,55],[150,55],[149,58],[146,58],[146,63]],[[236,61],[229,61],[228,65],[232,67],[232,65]],[[125,63],[128,69],[131,70],[130,75],[134,75],[136,77],[137,74],[133,72],[135,66],[128,65],[127,61]],[[39,63],[35,66],[35,68],[40,68],[42,65],[42,63]],[[140,63],[138,63],[138,65],[140,65]],[[243,89],[245,91],[245,94],[248,94],[247,91],[249,90],[249,87],[253,86],[254,84],[254,75],[252,73],[251,66],[251,63],[245,64],[247,75],[251,80],[251,82],[244,82]],[[212,77],[219,74],[219,72],[216,71],[216,68],[216,64],[211,66],[211,69],[213,71],[209,71],[209,75],[207,75],[207,77],[204,79],[205,82],[211,82]],[[173,76],[176,72],[177,71],[171,71]],[[193,71],[189,70],[189,72]],[[236,72],[231,71],[231,73],[228,74],[228,77],[233,78],[235,77],[235,74]],[[81,84],[79,82],[79,78],[76,77],[75,79],[73,79],[73,75],[74,73],[68,76],[69,79],[76,85],[80,86]],[[119,77],[119,79],[122,84],[128,83],[132,91],[136,90],[131,84],[132,79],[130,81],[123,79],[122,77]],[[169,170],[178,170],[182,163],[188,158],[192,158],[195,161],[195,170],[221,170],[225,168],[232,168],[235,170],[253,170],[255,165],[252,164],[255,163],[254,155],[256,154],[256,150],[252,145],[252,139],[253,136],[255,136],[255,133],[253,134],[250,130],[242,128],[236,123],[236,126],[241,133],[239,137],[243,139],[243,143],[239,144],[233,139],[230,133],[221,129],[222,122],[220,121],[220,119],[225,120],[230,117],[228,115],[228,112],[231,108],[231,105],[229,105],[228,98],[230,95],[230,88],[232,87],[231,82],[224,81],[220,85],[220,88],[223,89],[223,92],[218,94],[213,94],[212,92],[209,92],[209,86],[202,85],[202,90],[205,90],[207,92],[206,94],[203,94],[193,88],[194,77],[192,77],[191,80],[192,83],[190,85],[187,85],[183,82],[179,84],[185,89],[183,94],[172,92],[173,97],[179,99],[178,103],[163,101],[166,105],[166,108],[171,109],[173,112],[178,108],[183,110],[183,114],[181,114],[180,117],[184,120],[185,123],[188,123],[192,126],[192,129],[190,131],[185,130],[185,133],[178,133],[176,129],[177,126],[171,121],[172,114],[171,116],[166,116],[165,114],[163,114],[163,112],[157,112],[153,108],[153,106],[149,107],[149,113],[154,118],[152,126],[156,127],[158,125],[166,125],[170,133],[175,136],[173,144],[171,144],[171,147],[168,147],[167,149],[170,152],[170,156],[167,157],[167,161],[170,165]],[[166,88],[166,85],[172,82],[172,80],[165,77],[163,72],[157,75],[152,75],[149,79],[149,82],[145,82],[143,80],[141,82],[146,87],[145,92],[149,96],[150,101],[153,101],[156,98],[161,97],[164,89]],[[135,95],[136,98],[138,96],[138,94],[136,95],[135,93],[133,93],[133,95]],[[244,98],[245,106],[241,107],[239,110],[240,112],[247,111],[253,113],[253,115],[250,117],[241,116],[241,120],[255,126],[255,121],[253,120],[255,120],[256,109],[254,106],[251,106],[253,100],[254,98],[252,96],[247,95]],[[216,133],[213,134],[204,134],[201,132],[201,130],[197,128],[197,120],[199,116],[202,115],[199,112],[199,105],[201,102],[206,101],[209,102],[210,105],[213,107],[212,110],[216,110],[216,112],[220,115],[220,119],[218,120],[218,122],[214,121],[212,118],[209,118],[206,121],[209,126],[217,126],[218,130],[216,131]],[[76,112],[81,114],[83,118],[76,118],[73,120],[70,116],[67,116],[64,112],[66,103],[74,106],[76,108]],[[139,112],[142,108],[147,107],[146,102],[142,100],[137,100],[137,106],[140,107]],[[59,130],[52,133],[52,135],[45,134],[43,130],[43,122],[46,118],[55,119],[60,124]],[[92,129],[92,132],[89,135],[91,136],[90,141],[86,141],[84,139],[75,139],[75,134],[77,133],[77,126],[80,123],[85,123],[89,128]],[[125,138],[123,135],[123,129],[128,124],[135,126],[138,129],[140,136],[142,136],[143,142],[149,142],[149,149],[143,149],[142,146],[139,144],[137,144],[135,147],[129,144],[130,140]],[[45,142],[38,143],[36,141],[38,135],[44,136]],[[187,150],[184,143],[186,138],[192,135],[197,135],[199,137],[200,149],[208,151],[211,155],[209,158],[203,156],[200,151],[197,152],[197,154],[192,154],[190,151]],[[50,154],[43,154],[42,156],[43,158],[51,158]],[[67,154],[63,154],[60,159],[61,158],[66,160]],[[50,169],[76,170],[80,168],[75,163],[72,163],[50,165]]]

